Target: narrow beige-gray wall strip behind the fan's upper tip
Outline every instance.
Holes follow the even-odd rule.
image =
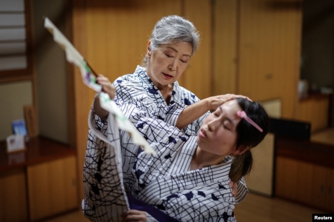
[[[44,28],[44,16],[65,34],[68,0],[33,0],[32,23],[39,132],[68,143],[67,73],[65,53]]]

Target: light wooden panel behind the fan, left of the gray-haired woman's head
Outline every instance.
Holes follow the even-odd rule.
[[[132,73],[146,53],[155,23],[165,15],[180,14],[173,1],[88,1],[87,59],[98,73],[114,80]]]

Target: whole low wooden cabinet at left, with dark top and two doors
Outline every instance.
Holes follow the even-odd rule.
[[[76,151],[44,137],[29,139],[26,148],[9,154],[0,143],[0,221],[37,221],[77,210]]]

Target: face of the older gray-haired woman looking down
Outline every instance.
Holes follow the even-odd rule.
[[[147,44],[147,55],[150,58],[147,74],[159,89],[173,84],[189,65],[193,50],[191,44],[180,42],[161,45],[154,52],[149,49],[150,44]]]

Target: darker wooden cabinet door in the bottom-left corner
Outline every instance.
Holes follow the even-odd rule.
[[[28,220],[26,176],[24,169],[0,174],[0,221]]]

